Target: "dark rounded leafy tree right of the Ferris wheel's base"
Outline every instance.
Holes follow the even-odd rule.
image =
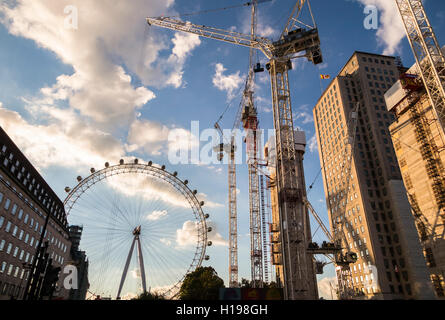
[[[189,273],[179,290],[181,300],[218,300],[224,281],[212,267],[199,267]]]

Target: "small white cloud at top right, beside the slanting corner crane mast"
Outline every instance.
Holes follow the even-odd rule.
[[[378,42],[384,47],[383,54],[394,55],[400,51],[400,43],[406,36],[402,18],[395,1],[358,0],[363,5],[373,5],[379,10]]]

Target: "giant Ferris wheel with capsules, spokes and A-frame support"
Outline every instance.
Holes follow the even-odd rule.
[[[83,226],[80,247],[95,295],[174,298],[185,276],[209,259],[209,215],[177,172],[121,160],[77,180],[64,204],[70,225]]]

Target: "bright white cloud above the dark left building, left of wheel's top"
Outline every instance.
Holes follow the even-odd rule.
[[[118,140],[81,121],[73,111],[43,107],[47,124],[32,124],[0,104],[0,125],[40,168],[102,166],[119,159],[124,150]]]

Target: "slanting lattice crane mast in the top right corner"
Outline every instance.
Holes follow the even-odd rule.
[[[445,58],[421,0],[396,0],[439,123],[445,124]]]

